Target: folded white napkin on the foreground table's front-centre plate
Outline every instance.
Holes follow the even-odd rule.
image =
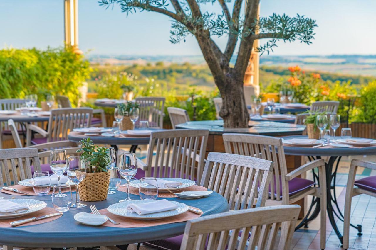
[[[163,200],[156,200],[152,202],[147,202],[147,203],[130,203],[127,206],[127,211],[130,213],[137,213],[139,215],[143,214],[153,214],[153,213],[158,213],[158,212],[164,212],[164,211],[169,211],[169,210],[174,210],[177,209],[177,206],[169,202],[166,199]]]

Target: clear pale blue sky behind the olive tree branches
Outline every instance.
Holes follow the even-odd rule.
[[[0,0],[0,48],[46,48],[64,40],[63,0]],[[232,5],[232,4],[231,4]],[[217,5],[205,6],[217,11]],[[317,20],[312,45],[278,43],[274,55],[376,54],[375,0],[261,0],[261,16],[276,12]],[[172,45],[170,20],[142,12],[105,9],[79,0],[79,47],[92,54],[200,55],[193,37]],[[224,47],[226,39],[217,39]]]

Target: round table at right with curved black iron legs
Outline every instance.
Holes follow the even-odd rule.
[[[307,136],[283,137],[283,139],[293,139],[293,138],[307,138]],[[338,239],[340,239],[342,243],[343,237],[335,222],[335,217],[343,221],[343,214],[341,212],[340,207],[338,206],[337,196],[335,193],[336,176],[337,176],[338,166],[341,161],[341,157],[349,156],[349,155],[375,155],[376,146],[351,147],[351,148],[334,148],[332,146],[324,146],[320,148],[284,146],[284,152],[286,155],[307,156],[310,161],[320,159],[322,156],[329,157],[329,159],[325,162],[327,215],[329,217],[329,221],[333,227],[333,230],[335,231],[336,235],[338,236]],[[314,181],[319,184],[317,173],[314,171],[312,171],[312,173],[313,173]],[[334,190],[334,192],[332,193],[331,190]],[[312,214],[310,214],[310,211],[313,211]],[[297,226],[297,228],[302,227],[302,226],[307,226],[308,222],[311,220],[314,220],[314,218],[318,216],[319,212],[320,212],[320,199],[314,197],[311,203],[311,207],[308,209],[308,213],[306,217]],[[358,230],[358,234],[361,235],[362,226],[360,224],[358,225],[350,224],[350,225],[356,228]]]

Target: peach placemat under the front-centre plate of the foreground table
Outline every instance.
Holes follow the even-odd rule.
[[[195,207],[192,207],[195,208]],[[199,209],[199,208],[196,208]],[[201,210],[201,209],[199,209]],[[110,217],[112,220],[119,222],[120,224],[112,224],[110,221],[106,221],[105,224],[102,224],[102,226],[106,227],[121,227],[121,228],[129,228],[129,227],[151,227],[151,226],[159,226],[163,224],[170,224],[170,223],[176,223],[176,222],[182,222],[187,220],[192,220],[195,218],[199,218],[201,214],[195,214],[194,212],[186,211],[185,213],[162,218],[158,220],[136,220],[133,218],[128,218],[116,214],[111,214],[107,209],[100,209],[100,214],[106,215]]]

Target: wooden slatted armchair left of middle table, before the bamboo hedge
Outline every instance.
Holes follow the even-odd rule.
[[[47,131],[42,128],[28,124],[26,140],[27,146],[67,140],[68,133],[73,128],[90,127],[92,108],[58,108],[51,110]],[[42,138],[32,137],[32,131],[40,134]]]

